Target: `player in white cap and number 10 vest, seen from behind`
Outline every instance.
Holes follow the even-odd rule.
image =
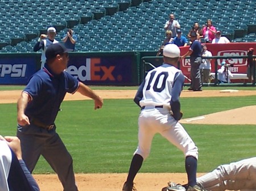
[[[148,72],[134,97],[135,103],[141,107],[138,118],[139,142],[131,160],[126,182],[123,184],[123,191],[134,189],[134,178],[150,154],[151,142],[156,133],[183,151],[188,191],[202,190],[196,183],[197,147],[178,122],[182,117],[179,96],[185,79],[181,70],[177,69],[179,59],[180,49],[177,45],[164,46],[163,65]]]

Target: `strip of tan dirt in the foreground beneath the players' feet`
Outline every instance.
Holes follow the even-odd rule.
[[[201,176],[204,173],[198,173]],[[80,191],[121,191],[126,173],[76,174],[76,182]],[[34,175],[41,191],[63,190],[57,175]],[[138,191],[160,191],[168,181],[185,184],[185,173],[138,173],[135,187]],[[53,189],[54,188],[54,189]]]

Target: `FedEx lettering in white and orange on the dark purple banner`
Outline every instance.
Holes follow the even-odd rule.
[[[100,58],[87,58],[85,65],[79,67],[71,65],[67,72],[81,81],[104,81],[108,79],[114,81],[115,78],[112,73],[115,66],[100,66],[100,63]]]

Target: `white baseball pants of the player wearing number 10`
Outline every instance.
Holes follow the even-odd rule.
[[[183,126],[177,122],[167,108],[143,109],[138,119],[138,148],[134,154],[139,154],[146,159],[150,154],[151,143],[156,133],[161,134],[170,143],[183,151],[184,156],[198,158],[195,143],[189,137]]]

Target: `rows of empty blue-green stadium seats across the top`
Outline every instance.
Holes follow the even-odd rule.
[[[1,24],[2,27],[5,27],[2,33],[7,33],[6,36],[9,35],[11,38],[14,37],[11,36],[14,34],[11,34],[9,30],[15,32],[15,29],[19,29],[22,31],[19,33],[26,34],[25,40],[33,41],[33,43],[34,39],[38,39],[39,33],[46,31],[49,26],[54,26],[57,29],[58,36],[65,28],[73,26],[77,34],[81,33],[80,45],[82,48],[86,44],[93,44],[91,37],[96,35],[103,37],[102,40],[106,41],[106,45],[117,43],[127,45],[134,44],[133,41],[141,43],[146,39],[151,39],[151,45],[157,44],[159,48],[159,44],[162,43],[165,36],[163,26],[168,20],[170,12],[174,12],[185,35],[193,22],[198,21],[201,25],[208,18],[213,20],[214,26],[222,31],[223,36],[226,35],[230,39],[241,36],[243,41],[251,41],[253,37],[245,35],[256,32],[256,22],[251,16],[256,4],[245,0],[241,0],[242,3],[236,0],[204,0],[200,3],[196,0],[177,0],[175,3],[171,0],[69,0],[65,2],[59,0],[48,2],[11,0],[10,2],[14,1],[16,3],[6,3],[7,0],[5,3],[0,2],[0,7],[3,6],[0,11]],[[134,6],[134,3],[138,3],[138,6]],[[170,5],[172,6],[170,7]],[[22,8],[18,10],[19,7],[24,7],[24,10]],[[212,11],[209,12],[209,10]],[[67,16],[69,12],[72,15]],[[101,12],[105,12],[105,15],[102,15]],[[73,17],[76,17],[75,20],[77,20],[74,24],[71,22]],[[64,25],[61,22],[65,22]],[[147,27],[144,27],[145,25]],[[35,28],[38,31],[31,33]],[[236,33],[234,32],[235,28],[237,29]],[[243,35],[238,29],[243,30]],[[151,35],[151,38],[148,35]],[[113,41],[110,40],[116,36],[117,38],[114,38]],[[24,51],[24,49],[20,49],[19,44],[17,47],[19,51]],[[99,50],[106,48],[109,47],[96,47]],[[142,47],[138,46],[138,48]],[[144,48],[152,50],[154,46]]]

